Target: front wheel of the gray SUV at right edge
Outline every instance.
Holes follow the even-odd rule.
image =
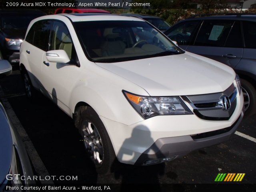
[[[242,93],[244,95],[245,117],[256,113],[256,90],[248,81],[241,79]]]

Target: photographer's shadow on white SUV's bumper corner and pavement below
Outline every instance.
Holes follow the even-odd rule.
[[[130,138],[124,140],[119,152],[118,157],[124,162],[136,162],[140,154],[136,154],[135,151],[129,150],[127,146],[137,146],[145,147],[145,140],[150,143],[154,143],[151,137],[150,130],[146,126],[136,126],[132,130]],[[146,146],[145,149],[148,147]],[[156,158],[161,156],[158,148],[154,148],[154,153]],[[158,152],[158,153],[157,153]],[[153,191],[160,191],[159,176],[164,175],[165,164],[155,164],[150,166],[136,166],[130,164],[118,163],[118,160],[112,165],[112,172],[114,172],[114,177],[116,179],[121,179],[121,189],[120,191],[131,191],[131,186],[128,184],[154,184],[152,185]]]

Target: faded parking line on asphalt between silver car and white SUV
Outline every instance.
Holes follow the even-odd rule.
[[[4,94],[3,94],[2,88],[0,86],[0,97],[2,97],[3,95]],[[28,134],[26,133],[25,129],[23,128],[22,124],[20,123],[20,120],[18,119],[15,112],[13,111],[12,106],[10,105],[10,103],[8,102],[8,100],[6,98],[2,99],[2,104],[6,110],[9,118],[11,119],[12,124],[17,129],[18,133],[20,134],[20,137],[22,138],[22,141],[23,141],[25,148],[28,152],[28,156],[30,157],[30,160],[32,161],[32,164],[36,170],[36,173],[38,174],[38,176],[41,176],[41,178],[45,178],[45,176],[50,176],[46,167],[44,166],[44,163],[42,162],[40,156],[38,155],[32,141],[28,137]],[[42,184],[54,184],[52,179],[45,180],[45,181],[41,180],[40,182]]]

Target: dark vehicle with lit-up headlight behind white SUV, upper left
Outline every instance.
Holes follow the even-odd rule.
[[[2,57],[10,63],[19,63],[20,44],[25,37],[28,24],[34,18],[45,15],[40,10],[0,9],[0,50]]]

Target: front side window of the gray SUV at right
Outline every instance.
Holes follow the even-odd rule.
[[[182,22],[165,33],[171,40],[178,42],[179,45],[188,45],[196,31],[199,21]]]

